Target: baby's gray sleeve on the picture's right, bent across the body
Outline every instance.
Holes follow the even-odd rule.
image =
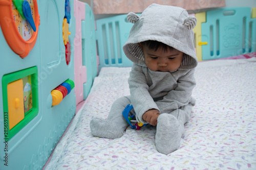
[[[161,113],[172,112],[188,103],[195,104],[195,100],[191,98],[192,91],[196,86],[194,72],[195,69],[191,69],[186,75],[180,77],[177,87],[169,91],[162,100],[156,102]]]

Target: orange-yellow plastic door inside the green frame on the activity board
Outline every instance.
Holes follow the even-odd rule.
[[[19,79],[7,85],[9,129],[24,119],[23,80]]]

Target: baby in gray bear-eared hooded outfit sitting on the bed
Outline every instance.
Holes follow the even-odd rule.
[[[198,61],[192,29],[197,19],[179,7],[152,4],[140,16],[129,13],[127,20],[134,23],[123,46],[133,62],[131,95],[114,102],[108,119],[93,118],[91,131],[99,137],[121,137],[128,126],[122,111],[132,104],[137,122],[156,126],[156,149],[167,155],[179,148],[195,105],[191,93]]]

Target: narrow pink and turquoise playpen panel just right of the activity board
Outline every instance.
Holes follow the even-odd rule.
[[[95,19],[88,4],[74,0],[76,35],[75,56],[75,94],[76,104],[86,100],[94,78],[98,74],[95,40]]]

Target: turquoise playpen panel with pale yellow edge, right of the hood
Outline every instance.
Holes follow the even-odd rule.
[[[251,12],[252,11],[252,12]],[[255,52],[256,8],[221,8],[197,13],[194,29],[198,60]]]

